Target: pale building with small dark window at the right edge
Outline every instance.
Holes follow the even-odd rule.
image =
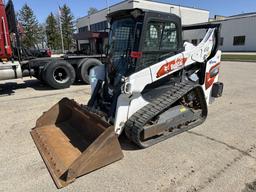
[[[210,22],[221,23],[220,49],[226,52],[256,51],[256,12],[229,17],[215,16]],[[202,33],[203,34],[203,33]],[[194,31],[185,34],[186,41],[197,44],[203,35]]]

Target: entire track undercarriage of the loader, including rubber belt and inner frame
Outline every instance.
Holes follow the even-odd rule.
[[[137,111],[125,124],[127,137],[146,148],[204,122],[207,104],[199,85],[176,84]]]

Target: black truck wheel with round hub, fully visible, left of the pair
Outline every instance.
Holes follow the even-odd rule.
[[[71,64],[66,61],[49,63],[44,71],[43,79],[55,89],[70,87],[75,81],[76,73]]]

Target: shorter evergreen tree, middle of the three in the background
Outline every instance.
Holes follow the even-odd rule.
[[[61,39],[59,26],[58,21],[56,17],[53,15],[53,13],[50,13],[50,15],[46,19],[45,31],[47,36],[48,47],[55,50],[60,49]]]

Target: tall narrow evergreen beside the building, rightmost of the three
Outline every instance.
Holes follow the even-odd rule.
[[[70,8],[66,4],[64,4],[61,8],[61,23],[64,39],[64,48],[65,50],[70,50],[74,43],[73,34],[75,32],[75,26],[74,16],[71,13]]]

